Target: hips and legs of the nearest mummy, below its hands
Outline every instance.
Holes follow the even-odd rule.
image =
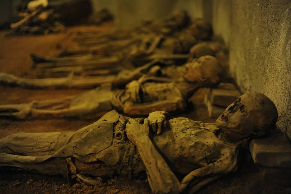
[[[0,166],[64,177],[133,177],[145,169],[134,145],[126,138],[126,123],[123,115],[111,111],[76,132],[9,135],[0,140]]]

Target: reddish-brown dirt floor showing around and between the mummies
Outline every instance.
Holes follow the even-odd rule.
[[[92,29],[108,29],[111,24]],[[0,32],[0,72],[13,73],[18,76],[29,77],[31,59],[29,54],[36,52],[55,56],[58,53],[58,43],[70,44],[70,34],[88,27],[76,27],[66,33],[49,36],[26,36],[4,38],[5,32]],[[31,100],[45,100],[63,96],[79,94],[84,90],[29,90],[13,87],[0,87],[0,104],[27,103]],[[213,122],[207,117],[207,110],[203,105],[205,89],[200,89],[192,98],[193,107],[189,111],[177,116],[189,117],[193,120]],[[42,120],[42,121],[12,121],[0,120],[0,138],[18,132],[52,132],[75,131],[94,121],[83,120]],[[246,154],[248,156],[248,154]],[[237,173],[228,174],[218,181],[208,185],[199,194],[280,194],[291,193],[290,170],[269,169],[254,165],[247,160]],[[250,159],[250,158],[249,158]],[[0,193],[120,193],[139,194],[151,193],[146,180],[133,181],[123,177],[104,180],[100,185],[88,186],[78,183],[67,183],[62,177],[48,177],[0,168]]]

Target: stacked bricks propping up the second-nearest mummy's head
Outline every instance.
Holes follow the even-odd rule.
[[[230,83],[221,83],[217,88],[207,90],[204,103],[212,119],[219,117],[226,107],[240,96],[239,91]]]

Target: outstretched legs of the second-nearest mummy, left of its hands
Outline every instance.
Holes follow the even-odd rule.
[[[112,110],[111,89],[96,88],[82,94],[31,103],[0,105],[0,117],[16,119],[94,118]]]

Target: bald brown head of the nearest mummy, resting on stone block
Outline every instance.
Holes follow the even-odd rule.
[[[278,119],[276,106],[258,92],[246,93],[230,104],[216,120],[221,135],[229,141],[260,137],[275,127]]]

